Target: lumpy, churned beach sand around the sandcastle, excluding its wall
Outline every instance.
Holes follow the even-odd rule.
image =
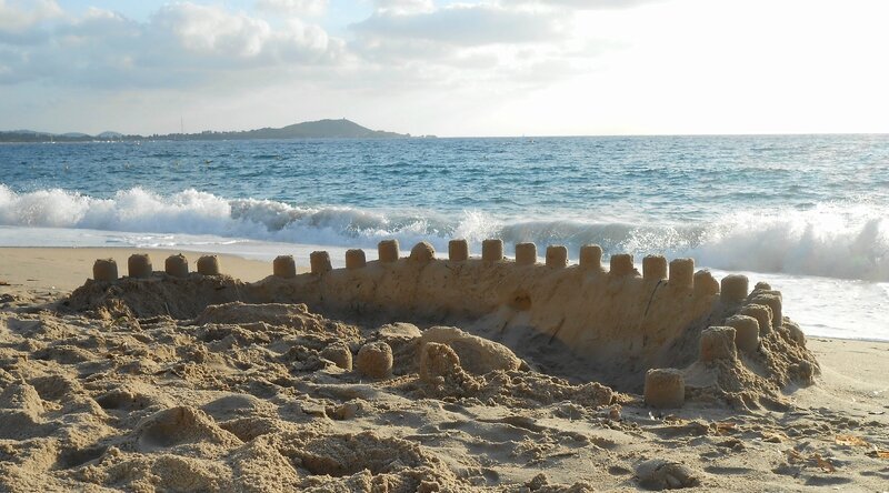
[[[787,411],[665,412],[456,329],[58,303],[130,253],[0,249],[0,491],[889,490],[886,343],[810,339],[821,374]]]

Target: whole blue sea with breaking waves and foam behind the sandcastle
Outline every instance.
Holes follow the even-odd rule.
[[[0,145],[0,247],[342,265],[392,238],[691,256],[781,290],[810,336],[889,340],[889,135]]]

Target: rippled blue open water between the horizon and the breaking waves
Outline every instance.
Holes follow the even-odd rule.
[[[300,207],[670,223],[889,199],[889,135],[13,144],[0,167],[14,191],[102,199],[191,188]]]

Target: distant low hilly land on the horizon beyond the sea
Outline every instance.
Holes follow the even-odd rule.
[[[168,133],[166,135],[136,135],[119,132],[102,132],[97,135],[86,133],[47,133],[33,130],[0,131],[0,142],[98,142],[138,140],[248,140],[248,139],[407,139],[410,133],[371,130],[358,123],[341,120],[307,121],[280,129],[263,128],[239,132]],[[431,135],[429,135],[431,137]]]

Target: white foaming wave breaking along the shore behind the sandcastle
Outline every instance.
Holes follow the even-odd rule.
[[[693,256],[723,270],[889,281],[889,211],[873,204],[819,204],[806,211],[743,211],[687,224],[640,224],[497,218],[485,211],[447,215],[429,211],[374,211],[299,207],[260,199],[226,199],[197,190],[160,195],[140,188],[98,199],[60,189],[17,193],[0,184],[0,224],[82,228],[144,233],[211,234],[332,247],[373,248],[396,238],[406,247],[430,241],[440,251],[465,238],[508,245],[533,241],[582,244],[607,254],[630,252]],[[511,247],[507,247],[511,251]]]

